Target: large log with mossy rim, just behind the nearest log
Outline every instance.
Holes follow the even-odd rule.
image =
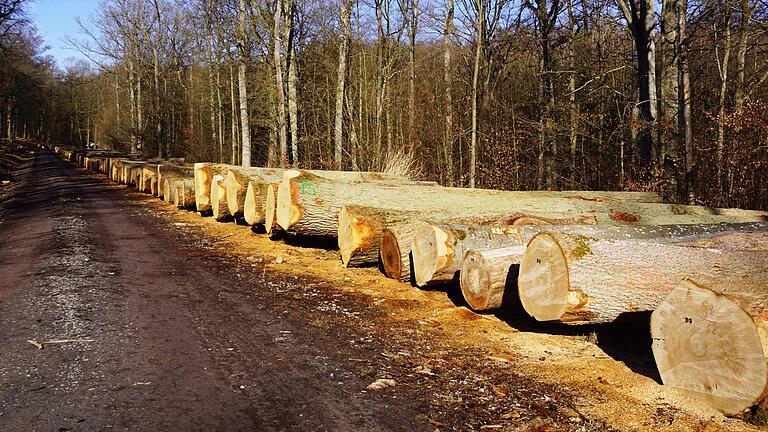
[[[518,294],[539,321],[603,323],[654,310],[684,278],[765,289],[768,254],[542,232],[523,254]]]

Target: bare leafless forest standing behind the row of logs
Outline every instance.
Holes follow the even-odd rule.
[[[765,0],[0,0],[7,139],[768,209]]]

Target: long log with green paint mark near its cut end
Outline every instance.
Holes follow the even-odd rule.
[[[342,205],[446,212],[466,217],[518,214],[557,223],[658,224],[666,218],[687,215],[693,220],[691,215],[712,213],[712,209],[705,207],[620,200],[620,193],[596,192],[599,198],[590,194],[427,187],[407,182],[341,182],[304,174],[284,178],[280,183],[277,222],[288,232],[334,236]]]

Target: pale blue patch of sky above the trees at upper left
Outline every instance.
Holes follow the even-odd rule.
[[[66,36],[80,38],[79,27],[75,18],[85,23],[98,6],[99,0],[33,0],[28,11],[30,18],[37,25],[39,34],[50,46],[48,54],[56,59],[60,68],[64,68],[73,59],[85,59],[85,56],[67,45]]]

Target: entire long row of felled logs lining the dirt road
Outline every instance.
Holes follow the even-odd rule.
[[[521,305],[563,324],[652,311],[665,384],[726,414],[768,393],[766,212],[668,204],[653,192],[462,189],[373,172],[56,151],[219,221],[334,238],[345,267],[458,284],[477,311]]]

